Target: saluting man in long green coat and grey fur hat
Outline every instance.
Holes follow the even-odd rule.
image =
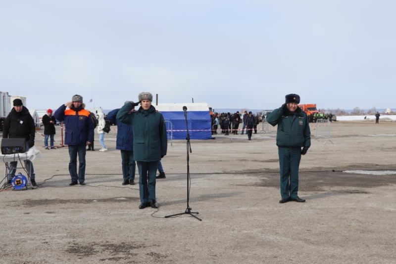
[[[131,112],[140,102],[141,107]],[[167,134],[164,117],[151,105],[152,94],[139,93],[138,103],[126,103],[117,113],[117,119],[133,126],[133,153],[139,170],[139,209],[158,208],[155,199],[155,175],[158,161],[166,155]]]

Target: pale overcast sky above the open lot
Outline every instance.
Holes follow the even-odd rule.
[[[396,109],[395,13],[395,0],[0,0],[0,91],[29,109],[76,93],[113,109],[142,91],[214,109],[288,93]]]

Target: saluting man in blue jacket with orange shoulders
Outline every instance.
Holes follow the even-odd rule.
[[[90,111],[84,109],[83,96],[75,94],[72,101],[62,104],[53,114],[59,121],[65,124],[65,144],[69,150],[69,173],[71,176],[70,186],[85,185],[85,154],[86,146],[94,141],[94,122],[90,117]],[[78,174],[77,174],[78,155]]]

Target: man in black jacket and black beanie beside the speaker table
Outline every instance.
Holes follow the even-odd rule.
[[[26,151],[34,146],[36,135],[36,126],[29,110],[23,106],[22,100],[17,98],[12,101],[14,107],[4,120],[2,138],[25,138]],[[33,163],[30,160],[24,160],[27,174],[30,177],[32,186],[37,186],[36,175],[34,173]],[[7,184],[11,184],[11,179],[15,176],[18,161],[9,162]]]

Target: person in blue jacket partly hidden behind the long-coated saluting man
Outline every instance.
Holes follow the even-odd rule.
[[[124,104],[134,102],[126,101]],[[116,116],[120,109],[114,109],[107,114],[107,120],[112,124],[117,124],[117,140],[116,149],[121,151],[122,177],[124,181],[122,185],[135,185],[136,162],[133,157],[133,127],[117,120]],[[130,113],[135,111],[132,107]],[[130,114],[129,113],[129,114]]]

